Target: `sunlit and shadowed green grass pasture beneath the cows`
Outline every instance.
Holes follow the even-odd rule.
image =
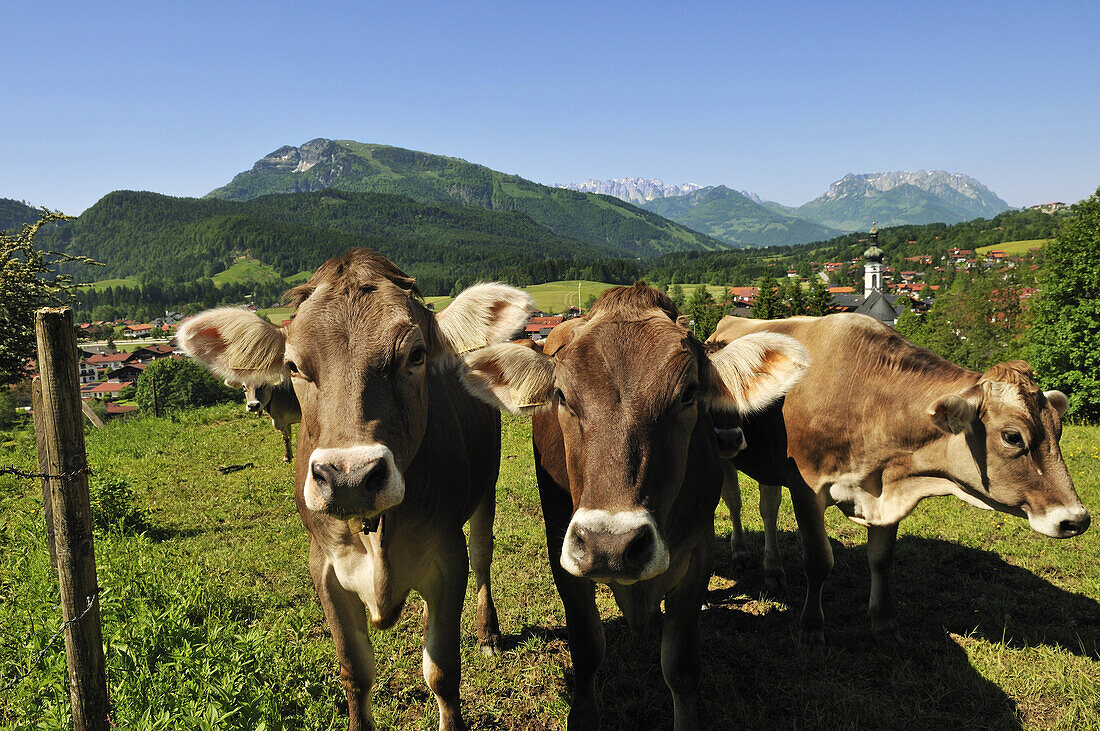
[[[293,468],[266,418],[240,406],[134,418],[88,432],[95,480],[124,478],[143,511],[97,533],[112,721],[127,729],[341,729],[331,639],[310,584]],[[1100,508],[1100,428],[1067,427],[1078,490]],[[33,469],[26,431],[0,465]],[[228,475],[216,467],[251,462]],[[701,616],[706,728],[1100,729],[1100,529],[1054,541],[1025,521],[926,500],[902,523],[894,576],[908,642],[870,639],[865,532],[828,512],[836,567],[828,649],[794,633],[804,580],[789,501],[780,517],[790,589],[763,590],[757,494],[743,479],[755,551],[736,561],[719,507],[718,555]],[[37,483],[0,476],[0,728],[64,728],[59,624]],[[483,658],[473,596],[463,614],[462,699],[476,729],[564,729],[571,671],[535,484],[529,422],[505,417],[494,594],[504,652]],[[635,638],[598,591],[605,729],[671,728],[657,643]],[[435,729],[420,669],[420,602],[374,632],[380,728]],[[45,650],[45,652],[42,652]],[[41,656],[40,656],[41,654]]]

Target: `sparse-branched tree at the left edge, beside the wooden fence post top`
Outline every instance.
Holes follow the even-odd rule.
[[[67,262],[95,264],[85,256],[35,247],[34,236],[42,226],[66,218],[43,209],[42,217],[24,224],[22,232],[0,232],[0,385],[26,377],[26,362],[35,348],[34,311],[74,298],[73,277],[54,267]]]

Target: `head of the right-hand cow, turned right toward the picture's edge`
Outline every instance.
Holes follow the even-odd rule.
[[[1065,394],[1041,391],[1027,364],[1013,361],[937,400],[928,416],[953,435],[947,464],[968,502],[1026,516],[1044,535],[1070,538],[1089,527],[1089,511],[1058,448],[1067,406]]]

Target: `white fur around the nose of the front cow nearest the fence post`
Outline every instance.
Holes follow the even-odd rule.
[[[315,466],[332,465],[338,472],[344,475],[354,474],[372,464],[384,465],[386,479],[383,486],[374,495],[373,500],[366,500],[370,496],[364,495],[338,495],[333,492],[333,487],[326,486],[315,476]],[[354,490],[354,487],[341,486],[341,490]],[[315,512],[330,512],[333,510],[349,512],[344,506],[349,503],[359,505],[370,502],[356,508],[350,514],[361,514],[373,518],[383,510],[393,508],[405,499],[405,478],[397,469],[394,462],[394,453],[384,444],[365,444],[361,446],[343,448],[314,450],[309,455],[309,469],[306,473],[306,486],[304,490],[306,507]]]

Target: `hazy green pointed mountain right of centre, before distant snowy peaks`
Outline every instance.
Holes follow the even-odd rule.
[[[658,198],[645,208],[735,246],[787,246],[840,233],[767,208],[726,186]]]

